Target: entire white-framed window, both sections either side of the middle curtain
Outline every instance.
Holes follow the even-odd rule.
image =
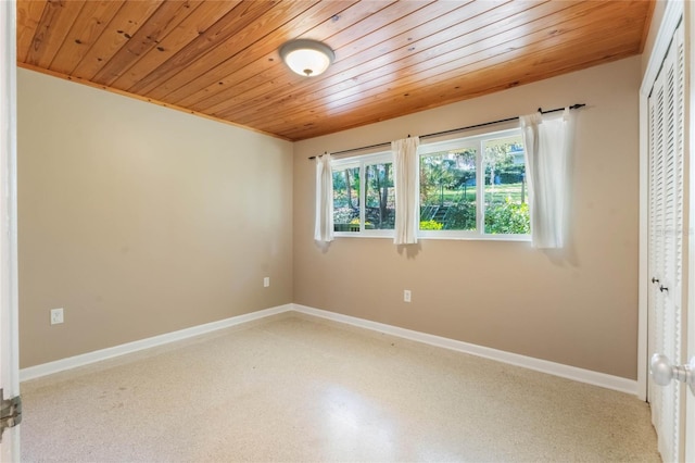
[[[520,129],[420,145],[421,238],[528,239],[530,217]],[[338,236],[393,236],[390,152],[333,161]]]

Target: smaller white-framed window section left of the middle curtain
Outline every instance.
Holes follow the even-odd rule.
[[[395,223],[391,153],[333,161],[333,229],[392,236]]]

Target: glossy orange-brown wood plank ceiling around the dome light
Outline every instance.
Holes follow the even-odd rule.
[[[289,139],[642,52],[654,0],[18,0],[22,67]],[[278,49],[336,62],[292,73]],[[568,102],[569,103],[569,102]]]

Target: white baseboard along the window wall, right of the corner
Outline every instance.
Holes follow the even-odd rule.
[[[397,326],[386,325],[383,323],[371,322],[364,318],[342,315],[339,313],[313,309],[305,305],[292,304],[292,306],[294,311],[307,315],[328,318],[334,322],[345,323],[348,325],[384,333],[387,335],[393,335],[444,349],[451,349],[471,355],[482,356],[497,362],[508,363],[511,365],[534,370],[536,372],[547,373],[554,376],[560,376],[563,378],[572,379],[579,383],[601,386],[607,389],[614,389],[634,396],[637,395],[637,381],[634,379],[626,379],[619,376],[607,375],[605,373],[592,372],[591,370],[578,368],[576,366],[564,365],[561,363],[548,362],[547,360],[534,359],[531,356],[520,355],[518,353],[505,352],[497,349],[471,345],[468,342],[457,341],[440,336],[428,335],[426,333],[414,331],[412,329],[399,328]]]

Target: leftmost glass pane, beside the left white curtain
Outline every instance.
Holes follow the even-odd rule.
[[[359,167],[333,171],[333,230],[359,232]]]

